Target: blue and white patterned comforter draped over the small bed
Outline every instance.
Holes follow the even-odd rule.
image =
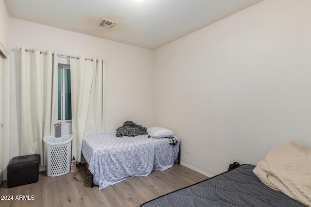
[[[147,176],[153,170],[166,170],[173,166],[179,152],[168,138],[116,137],[111,134],[88,135],[82,141],[82,153],[94,183],[102,190],[134,176]]]

